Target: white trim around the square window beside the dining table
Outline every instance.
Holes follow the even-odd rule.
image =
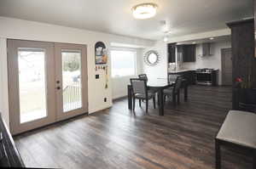
[[[134,75],[126,75],[126,76],[112,76],[112,51],[125,51],[125,52],[133,52],[135,54],[134,56],[134,69],[135,69],[135,74]],[[130,76],[137,76],[137,49],[136,48],[118,48],[118,47],[112,47],[109,50],[109,55],[110,55],[110,66],[111,66],[111,78],[113,79],[118,79],[118,78],[123,78],[123,77],[130,77]]]

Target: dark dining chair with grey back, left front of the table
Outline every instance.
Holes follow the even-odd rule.
[[[153,99],[154,109],[155,109],[155,94],[151,93],[147,89],[147,81],[140,78],[131,78],[131,88],[132,88],[132,110],[135,110],[135,101],[139,100],[139,105],[141,106],[141,101],[146,100],[146,113],[148,114],[148,100]]]

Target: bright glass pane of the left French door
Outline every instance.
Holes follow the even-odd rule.
[[[44,49],[19,48],[20,123],[47,116]]]

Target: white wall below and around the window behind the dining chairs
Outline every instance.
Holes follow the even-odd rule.
[[[115,48],[113,48],[115,49]],[[122,76],[122,77],[112,77],[112,97],[113,99],[119,99],[127,96],[127,85],[130,84],[130,78],[136,78],[138,74],[143,72],[142,57],[143,49],[142,48],[116,48],[122,50],[131,50],[137,52],[136,60],[136,75],[135,76]],[[111,56],[110,56],[111,57]]]

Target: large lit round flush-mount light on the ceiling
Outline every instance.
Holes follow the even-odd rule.
[[[156,14],[157,5],[154,3],[142,3],[132,8],[132,14],[136,19],[148,19]]]

